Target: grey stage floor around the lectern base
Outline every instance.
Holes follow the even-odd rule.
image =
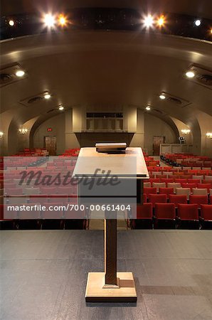
[[[0,231],[0,319],[212,317],[212,231],[118,231],[120,272],[137,304],[85,303],[88,272],[103,272],[100,230]]]

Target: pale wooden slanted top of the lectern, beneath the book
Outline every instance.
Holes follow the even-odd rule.
[[[80,149],[73,176],[106,176],[108,171],[123,178],[149,178],[141,148],[129,147],[123,154],[98,153],[92,147]]]

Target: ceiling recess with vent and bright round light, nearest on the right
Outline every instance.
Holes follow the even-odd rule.
[[[201,85],[208,89],[212,89],[212,71],[206,69],[201,65],[190,65],[188,71],[194,72],[194,78],[187,78],[185,75],[186,80],[195,82],[197,85]]]

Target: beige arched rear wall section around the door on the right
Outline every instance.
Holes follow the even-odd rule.
[[[163,120],[151,114],[144,114],[144,149],[152,154],[152,141],[154,136],[165,137],[166,144],[176,143],[174,130]]]

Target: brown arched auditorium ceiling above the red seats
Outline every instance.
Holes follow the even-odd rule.
[[[1,0],[1,14],[112,6],[211,18],[211,4],[211,0]],[[212,115],[211,89],[184,77],[193,63],[212,70],[207,41],[137,31],[44,33],[1,41],[1,68],[14,63],[27,76],[1,87],[1,113],[12,110],[18,126],[38,115],[37,123],[43,122],[60,104],[65,109],[86,105],[89,111],[122,105],[144,110],[148,104],[156,110],[154,115],[175,117],[191,127],[198,127],[198,112]],[[53,95],[51,100],[23,105],[23,100],[46,90]],[[160,92],[186,100],[186,106],[159,100]]]

